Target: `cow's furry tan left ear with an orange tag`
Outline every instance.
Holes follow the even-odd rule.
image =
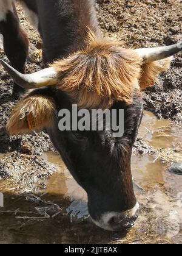
[[[25,96],[13,109],[7,130],[12,135],[41,131],[52,126],[55,113],[52,98],[42,95]]]

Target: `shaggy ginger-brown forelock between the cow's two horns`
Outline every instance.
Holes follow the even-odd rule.
[[[113,101],[132,103],[141,64],[140,57],[122,48],[120,41],[98,40],[90,32],[86,49],[52,66],[59,73],[57,87],[79,107],[108,108]]]

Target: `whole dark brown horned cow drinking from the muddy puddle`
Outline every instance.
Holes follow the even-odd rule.
[[[182,44],[125,49],[105,38],[94,0],[22,0],[42,38],[45,68],[25,74],[29,43],[13,0],[0,0],[0,32],[11,65],[1,60],[19,98],[7,124],[10,134],[46,130],[64,163],[84,188],[93,222],[106,230],[135,224],[139,204],[133,191],[131,155],[143,116],[141,90],[170,66]],[[30,90],[29,90],[30,89]],[[123,110],[124,132],[64,130],[58,112],[78,108]]]

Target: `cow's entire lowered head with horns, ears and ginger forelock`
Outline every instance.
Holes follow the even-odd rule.
[[[8,131],[47,129],[73,177],[87,192],[93,222],[103,229],[121,230],[137,218],[130,160],[143,115],[140,88],[152,85],[169,68],[171,59],[164,58],[179,48],[180,44],[134,51],[122,48],[118,41],[98,41],[91,34],[86,49],[35,74],[19,74],[2,62],[16,84],[36,88],[16,105]],[[123,109],[123,136],[113,136],[112,129],[61,132],[58,112],[66,108],[72,113],[72,104],[89,110]]]

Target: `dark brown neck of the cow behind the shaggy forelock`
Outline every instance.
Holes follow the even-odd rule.
[[[50,2],[52,0],[37,1],[45,62],[67,57],[84,48],[88,28],[101,36],[94,0]]]

